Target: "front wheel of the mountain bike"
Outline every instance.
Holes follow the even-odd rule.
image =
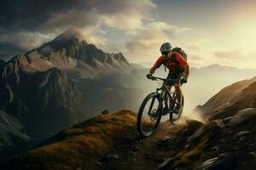
[[[162,105],[159,94],[152,93],[143,100],[137,115],[137,130],[143,137],[153,134],[161,119]]]

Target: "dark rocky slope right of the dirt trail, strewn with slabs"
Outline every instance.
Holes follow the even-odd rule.
[[[215,120],[189,136],[177,154],[167,158],[159,170],[254,169],[256,121],[255,108],[238,111],[229,122]]]

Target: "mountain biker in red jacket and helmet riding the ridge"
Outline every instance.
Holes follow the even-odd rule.
[[[181,54],[172,52],[172,46],[170,42],[165,42],[160,47],[161,56],[155,62],[154,66],[150,69],[148,78],[152,77],[154,71],[160,67],[160,65],[165,65],[169,69],[169,74],[167,78],[178,79],[179,82],[174,84],[176,95],[177,95],[177,106],[175,111],[178,113],[181,110],[182,101],[182,90],[181,84],[186,83],[189,77],[189,64],[183,58]],[[172,59],[175,57],[175,59]]]

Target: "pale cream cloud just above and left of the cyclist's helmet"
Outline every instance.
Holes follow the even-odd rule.
[[[137,62],[155,60],[156,56],[160,55],[160,45],[163,42],[175,42],[184,31],[188,31],[188,28],[172,26],[165,22],[148,23],[137,32],[131,41],[126,42],[125,53],[136,58]]]

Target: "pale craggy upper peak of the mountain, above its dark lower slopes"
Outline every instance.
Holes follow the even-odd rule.
[[[16,58],[16,57],[15,57]],[[23,56],[27,71],[46,71],[57,67],[70,75],[93,77],[98,73],[129,72],[131,65],[121,53],[108,54],[89,44],[79,31],[70,29],[51,42]]]

